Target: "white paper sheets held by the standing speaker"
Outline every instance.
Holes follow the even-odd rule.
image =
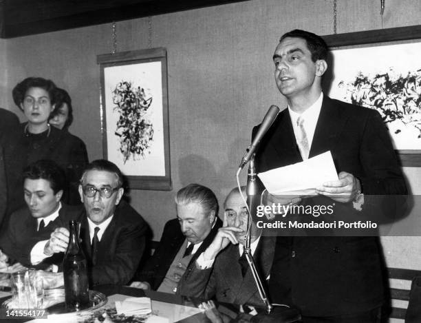
[[[258,176],[268,192],[274,195],[316,195],[316,187],[338,180],[330,151],[300,163],[270,169]]]

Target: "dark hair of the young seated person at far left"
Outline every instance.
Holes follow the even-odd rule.
[[[23,169],[23,180],[47,180],[50,187],[57,194],[58,191],[65,189],[65,172],[54,161],[49,159],[38,160]]]

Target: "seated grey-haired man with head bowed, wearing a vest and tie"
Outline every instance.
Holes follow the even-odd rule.
[[[208,187],[190,184],[177,192],[175,203],[177,218],[166,222],[160,246],[132,287],[175,293],[184,272],[195,267],[222,225],[217,198]]]

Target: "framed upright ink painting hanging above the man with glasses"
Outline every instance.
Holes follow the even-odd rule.
[[[130,189],[171,190],[166,49],[100,54],[97,63],[104,158]]]

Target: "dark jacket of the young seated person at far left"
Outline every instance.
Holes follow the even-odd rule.
[[[32,217],[28,207],[23,207],[12,213],[8,230],[1,236],[0,248],[9,256],[12,262],[21,262],[26,267],[45,269],[50,264],[61,262],[63,257],[54,255],[33,266],[30,262],[30,252],[36,242],[49,239],[54,229],[63,227],[67,218],[77,217],[79,213],[80,207],[62,204],[60,211],[58,211],[58,217],[54,221],[49,222],[41,231],[36,231],[36,218]]]

